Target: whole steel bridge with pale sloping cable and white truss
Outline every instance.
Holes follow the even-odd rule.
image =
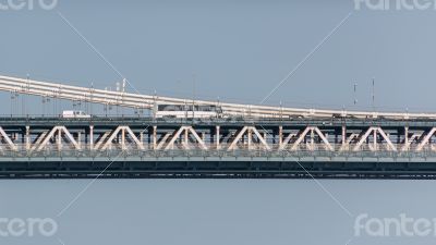
[[[0,90],[150,110],[186,103],[13,77],[0,77]],[[435,114],[220,106],[234,117],[0,118],[0,177],[436,179]]]

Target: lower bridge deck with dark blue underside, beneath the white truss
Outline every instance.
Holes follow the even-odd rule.
[[[0,177],[436,179],[436,154],[107,151],[11,152]]]

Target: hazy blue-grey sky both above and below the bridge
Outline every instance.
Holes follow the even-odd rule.
[[[4,3],[0,0],[0,3]],[[351,12],[268,101],[286,106],[436,111],[436,11],[354,10],[351,0],[60,1],[0,11],[3,75],[258,103]],[[86,41],[94,45],[113,71]],[[129,88],[133,91],[132,88]],[[15,99],[17,100],[17,99]],[[0,113],[20,112],[1,93]],[[41,101],[25,100],[40,113]],[[31,103],[31,101],[33,101]],[[64,105],[69,107],[69,105]],[[59,113],[59,111],[55,113]],[[434,236],[353,238],[354,217],[436,217],[435,182],[104,180],[1,181],[0,217],[55,218],[55,237],[0,244],[429,244]],[[402,243],[401,243],[402,242]]]

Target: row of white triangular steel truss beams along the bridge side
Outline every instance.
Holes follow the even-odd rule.
[[[153,125],[144,131],[144,123],[130,125],[99,124],[89,126],[81,123],[58,125],[14,126],[1,123],[0,152],[52,151],[77,152],[95,150],[100,154],[111,149],[135,151],[167,150],[266,150],[266,151],[436,151],[436,126],[382,127],[341,125],[227,125],[220,124]],[[64,123],[62,125],[62,123]],[[258,128],[264,128],[259,131]],[[148,128],[148,127],[147,127]],[[267,130],[265,130],[267,128]]]

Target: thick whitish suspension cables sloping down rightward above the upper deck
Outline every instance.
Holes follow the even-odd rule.
[[[180,99],[161,96],[138,95],[125,91],[110,91],[96,88],[70,86],[58,83],[38,82],[10,76],[0,76],[0,90],[25,95],[52,97],[75,101],[121,106],[136,109],[155,110],[157,105],[190,105],[192,99]],[[217,101],[195,100],[195,105],[217,106],[222,109],[225,117],[254,117],[254,118],[331,118],[353,117],[359,119],[436,119],[436,113],[401,113],[401,112],[371,112],[346,110],[317,110],[301,108],[284,108],[270,106],[253,106],[227,103]]]

